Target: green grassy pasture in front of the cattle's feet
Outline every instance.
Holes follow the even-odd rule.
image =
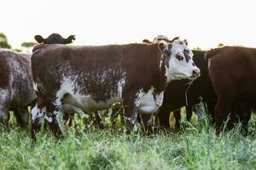
[[[67,138],[38,133],[33,143],[15,123],[0,128],[0,169],[255,169],[256,124],[244,137],[237,126],[218,137],[207,122],[180,133],[143,134],[85,127],[80,122]]]

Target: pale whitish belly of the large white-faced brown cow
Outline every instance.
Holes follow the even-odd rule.
[[[91,98],[90,95],[67,95],[63,99],[63,104],[73,105],[78,108],[81,108],[85,112],[94,112],[100,110],[106,110],[113,103],[121,102],[122,99],[119,97],[113,97],[110,99],[106,99],[105,101],[96,101],[95,99]]]

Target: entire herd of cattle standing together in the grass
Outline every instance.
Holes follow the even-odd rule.
[[[209,51],[188,48],[178,37],[106,46],[71,46],[74,36],[37,35],[32,54],[0,50],[0,122],[9,127],[13,111],[21,127],[29,123],[32,138],[43,122],[56,135],[67,135],[72,114],[95,114],[116,103],[127,132],[137,123],[149,128],[153,116],[170,129],[174,111],[199,117],[207,112],[216,133],[241,122],[247,133],[251,109],[256,109],[256,48],[224,47]],[[202,109],[203,108],[203,109]],[[203,113],[203,114],[201,114]],[[99,121],[101,122],[101,121]]]

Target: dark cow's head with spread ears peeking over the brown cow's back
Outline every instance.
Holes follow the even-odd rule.
[[[40,35],[36,35],[35,39],[38,43],[44,43],[44,44],[53,44],[53,43],[60,43],[60,44],[67,44],[72,43],[73,40],[75,40],[75,36],[71,35],[67,38],[61,37],[60,34],[53,33],[49,35],[46,39]]]

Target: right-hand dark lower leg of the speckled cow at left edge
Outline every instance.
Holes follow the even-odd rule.
[[[26,127],[28,124],[28,111],[27,107],[17,108],[14,110],[16,122],[20,127]]]

